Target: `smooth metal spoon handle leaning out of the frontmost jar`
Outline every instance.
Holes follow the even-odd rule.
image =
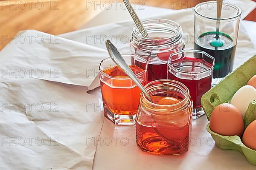
[[[112,44],[112,42],[110,40],[106,40],[106,47],[108,50],[108,54],[111,57],[111,59],[113,60],[113,62],[116,63],[116,65],[118,65],[122,71],[125,72],[125,74],[127,74],[127,76],[129,76],[132,81],[140,88],[140,90],[145,94],[145,96],[148,98],[148,100],[150,102],[153,102],[150,95],[148,94],[148,92],[145,90],[145,88],[143,87],[143,85],[140,83],[140,81],[137,79],[137,77],[135,76],[134,72],[131,71],[131,68],[128,66],[128,64],[125,62],[125,59],[122,57],[122,55],[120,54],[120,52],[117,50],[117,48],[115,47],[115,45]]]

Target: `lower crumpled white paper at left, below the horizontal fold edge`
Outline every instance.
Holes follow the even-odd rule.
[[[96,145],[87,141],[99,136],[103,116],[87,87],[1,78],[0,94],[1,170],[92,168]]]

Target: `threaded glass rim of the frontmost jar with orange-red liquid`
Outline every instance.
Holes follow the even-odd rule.
[[[150,101],[147,99],[147,97],[145,96],[145,94],[141,93],[141,98],[142,98],[142,100],[145,100],[145,101],[146,101],[147,103],[149,103],[150,105],[153,105],[153,106],[156,106],[156,107],[172,108],[172,107],[174,107],[174,106],[178,106],[178,105],[180,105],[180,104],[182,104],[182,103],[185,103],[185,102],[188,101],[188,100],[190,101],[189,89],[188,89],[188,88],[186,87],[186,85],[184,85],[183,83],[178,82],[178,81],[175,81],[175,80],[170,80],[170,79],[154,80],[154,81],[149,82],[148,84],[146,84],[146,85],[144,86],[144,88],[146,89],[146,91],[148,90],[149,86],[152,85],[152,84],[155,83],[155,82],[169,82],[169,83],[173,83],[173,84],[176,83],[176,84],[180,85],[180,87],[182,87],[182,88],[184,89],[184,91],[185,91],[185,93],[186,93],[186,96],[185,96],[185,98],[184,98],[182,101],[180,101],[180,102],[178,102],[178,103],[176,103],[176,104],[172,104],[172,105],[159,105],[159,104],[150,102]],[[161,87],[163,87],[163,86],[161,86]],[[147,92],[148,92],[148,91],[147,91]]]

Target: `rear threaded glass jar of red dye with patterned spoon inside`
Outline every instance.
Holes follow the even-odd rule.
[[[134,26],[130,42],[131,54],[148,61],[148,82],[167,79],[170,54],[183,50],[185,46],[181,26],[166,19],[145,20],[142,23],[149,38],[144,38],[137,26]],[[140,67],[144,63],[135,64]]]

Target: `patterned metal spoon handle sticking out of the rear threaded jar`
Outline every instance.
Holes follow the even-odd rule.
[[[131,3],[129,2],[129,0],[123,0],[123,1],[125,3],[126,8],[129,11],[129,13],[131,14],[131,17],[134,20],[134,23],[136,24],[137,28],[139,29],[140,33],[142,34],[142,36],[144,38],[149,38],[147,31],[143,27],[143,25],[142,25],[142,23],[140,21],[140,18],[138,17],[136,12],[134,11],[134,8],[132,8]]]

